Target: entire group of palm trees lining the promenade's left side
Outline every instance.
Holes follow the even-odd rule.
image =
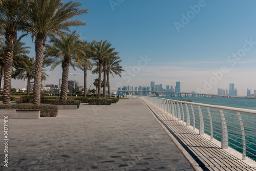
[[[97,63],[98,69],[95,72],[99,74],[99,81],[101,81],[103,70],[104,85],[106,85],[106,76],[109,74],[113,75],[115,73],[120,76],[123,70],[119,66],[119,57],[116,56],[118,52],[114,52],[110,42],[106,40],[97,42],[94,40],[88,43],[81,40],[76,32],[64,32],[70,31],[69,27],[71,26],[86,25],[81,20],[70,19],[74,16],[88,13],[88,9],[79,9],[80,6],[80,2],[64,4],[63,0],[0,0],[0,40],[5,38],[4,57],[3,60],[0,59],[2,60],[0,61],[0,76],[2,72],[4,73],[3,103],[10,103],[12,76],[14,78],[32,78],[31,75],[20,74],[24,73],[25,70],[22,63],[20,63],[25,60],[20,59],[21,57],[28,58],[26,56],[27,52],[20,53],[20,58],[17,61],[14,60],[14,56],[18,56],[15,55],[15,46],[22,43],[20,39],[28,34],[32,36],[32,40],[35,39],[35,60],[34,58],[27,60],[30,61],[31,65],[33,63],[34,73],[31,65],[28,65],[30,66],[30,71],[26,71],[26,73],[33,74],[34,77],[33,104],[40,103],[41,80],[44,79],[42,68],[47,65],[52,65],[51,69],[53,70],[61,63],[63,72],[60,99],[67,99],[70,66],[83,70],[84,84],[86,84],[87,70],[92,69],[90,59]],[[18,32],[23,32],[24,34],[18,38]],[[59,38],[56,36],[59,36]],[[48,37],[50,37],[51,44],[46,44]],[[116,64],[110,65],[111,61],[116,62]],[[3,62],[4,68],[1,68],[1,62]],[[15,62],[17,62],[17,67],[13,74],[12,68]],[[110,66],[118,69],[118,71],[111,70]],[[86,86],[84,88],[86,90]],[[86,96],[86,91],[84,93]],[[100,88],[98,88],[97,95],[99,98]],[[105,96],[105,86],[103,88],[103,96]]]

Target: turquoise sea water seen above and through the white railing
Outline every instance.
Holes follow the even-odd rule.
[[[171,96],[162,96],[161,98],[166,99],[173,99],[173,100],[192,100],[192,102],[195,103],[204,103],[204,104],[212,104],[212,105],[221,105],[221,106],[228,106],[233,108],[243,108],[243,109],[251,109],[256,110],[256,99],[246,99],[246,98],[207,98],[207,97],[171,97]],[[196,106],[195,106],[196,107]],[[195,116],[198,116],[197,108],[194,108],[195,110]],[[207,122],[209,124],[209,119],[207,116],[207,112],[204,108],[201,108],[203,114],[204,114],[204,122],[205,122],[205,133],[210,134],[209,127],[207,126]],[[191,111],[189,112],[191,115]],[[212,119],[212,122],[215,124],[214,126],[214,138],[221,141],[221,131],[220,131],[220,120],[219,118],[219,112],[211,111],[212,116],[215,114],[215,119]],[[242,149],[237,147],[239,143],[242,143],[242,136],[240,131],[240,125],[238,124],[238,120],[236,113],[229,112],[230,114],[225,114],[225,118],[227,121],[227,129],[229,133],[229,142],[230,147],[237,149],[237,151],[242,153]],[[232,115],[234,114],[234,115]],[[243,124],[245,125],[245,135],[246,135],[246,155],[254,160],[256,160],[256,151],[255,144],[256,144],[256,130],[254,130],[256,125],[256,116],[255,115],[247,115],[242,114],[244,116],[249,116],[251,118],[242,117]],[[191,118],[192,116],[190,116]],[[255,118],[255,119],[252,119]],[[199,119],[198,119],[199,120]],[[196,119],[196,128],[199,129],[199,121]],[[184,118],[184,121],[186,121],[186,117]],[[237,124],[234,124],[234,123]],[[190,122],[191,124],[191,122]],[[253,128],[253,129],[252,129]],[[236,144],[236,145],[233,145]],[[242,145],[239,144],[241,147]],[[250,154],[251,153],[251,154]]]

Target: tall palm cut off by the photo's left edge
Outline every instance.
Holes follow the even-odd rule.
[[[0,5],[0,32],[4,32],[6,41],[4,67],[3,103],[10,103],[11,74],[14,45],[17,42],[17,32],[24,30],[26,23],[26,1],[2,0]],[[29,10],[27,10],[29,11]]]

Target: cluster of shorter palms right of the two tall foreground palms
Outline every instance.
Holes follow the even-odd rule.
[[[60,100],[67,99],[68,92],[68,78],[70,66],[76,70],[79,68],[84,73],[84,96],[87,94],[87,71],[93,70],[93,74],[99,75],[98,81],[101,82],[101,73],[103,71],[103,97],[106,96],[105,90],[108,86],[109,96],[110,93],[110,81],[109,75],[114,74],[121,76],[121,72],[124,71],[120,66],[120,57],[116,56],[119,52],[114,52],[115,48],[111,48],[110,42],[107,40],[97,42],[87,42],[81,40],[79,35],[73,31],[71,33],[65,33],[60,38],[54,35],[50,36],[51,44],[46,45],[44,61],[51,63],[51,70],[54,70],[58,65],[62,67],[62,82]],[[93,60],[95,63],[92,63]],[[108,78],[108,85],[106,79]],[[97,97],[100,98],[101,84],[97,84]]]

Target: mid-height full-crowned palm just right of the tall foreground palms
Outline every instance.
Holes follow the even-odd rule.
[[[75,70],[77,63],[81,63],[80,56],[84,55],[79,35],[74,31],[56,38],[50,36],[53,45],[46,45],[45,59],[52,59],[51,71],[60,63],[62,67],[60,100],[66,100],[68,95],[69,67]]]

